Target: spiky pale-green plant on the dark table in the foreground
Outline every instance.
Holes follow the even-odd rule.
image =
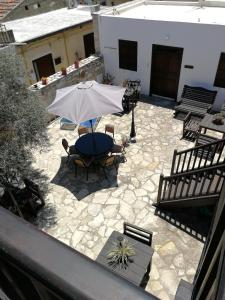
[[[135,255],[133,244],[122,236],[118,237],[117,241],[113,244],[114,246],[107,253],[108,264],[113,269],[117,267],[126,269],[128,267],[128,263],[133,262],[132,256]]]

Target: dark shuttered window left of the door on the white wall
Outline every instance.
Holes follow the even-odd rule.
[[[119,68],[137,71],[137,42],[119,40]]]

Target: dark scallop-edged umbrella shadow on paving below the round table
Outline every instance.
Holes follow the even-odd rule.
[[[118,156],[118,164],[123,160]],[[117,166],[118,167],[118,166]],[[67,157],[61,157],[60,167],[51,180],[51,183],[68,189],[75,198],[80,201],[88,195],[102,189],[118,187],[117,175],[118,168],[114,166],[105,169],[91,166],[89,169],[88,180],[86,180],[86,170],[78,167],[77,176],[75,176],[75,166],[71,157],[67,163]]]

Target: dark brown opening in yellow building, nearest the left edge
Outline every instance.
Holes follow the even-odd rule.
[[[47,54],[33,60],[33,66],[37,80],[40,80],[41,77],[48,77],[55,73],[55,67],[51,54]]]

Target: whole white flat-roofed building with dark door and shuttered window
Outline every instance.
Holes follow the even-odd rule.
[[[184,84],[201,86],[217,90],[216,110],[224,104],[224,7],[133,1],[97,15],[98,50],[116,84],[140,79],[143,94],[172,99]]]

